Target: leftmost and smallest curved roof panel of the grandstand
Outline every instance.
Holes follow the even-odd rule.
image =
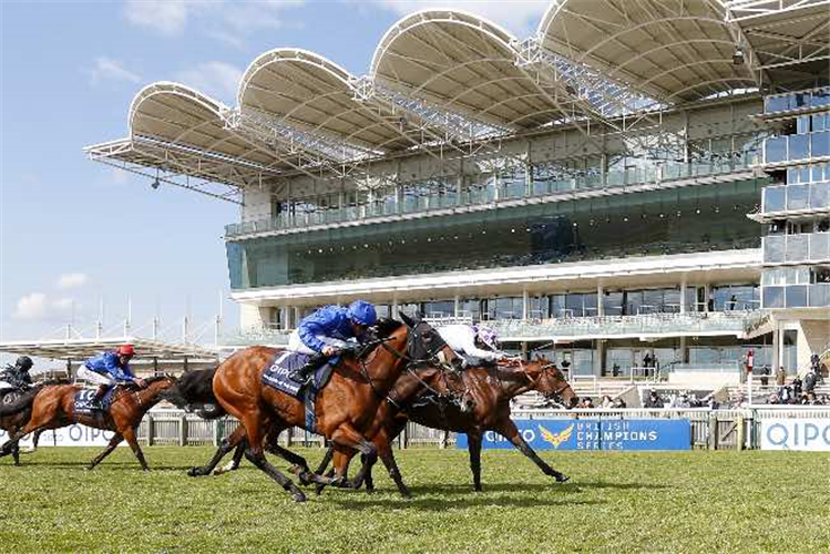
[[[221,102],[188,86],[157,82],[142,89],[130,105],[130,135],[184,144],[198,151],[239,158],[263,166],[274,162],[269,153],[225,127]]]

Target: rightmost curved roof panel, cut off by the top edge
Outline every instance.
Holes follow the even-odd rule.
[[[546,49],[667,102],[754,86],[736,65],[737,29],[710,0],[559,0],[539,35]]]

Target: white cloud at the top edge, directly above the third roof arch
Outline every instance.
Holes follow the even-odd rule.
[[[545,10],[551,7],[551,0],[373,0],[383,8],[399,16],[408,16],[413,11],[427,9],[447,9],[452,3],[453,9],[468,11],[489,19],[524,39],[535,32]]]

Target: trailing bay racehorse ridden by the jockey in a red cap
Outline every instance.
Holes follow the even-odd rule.
[[[44,387],[37,396],[29,399],[28,404],[20,402],[17,406],[18,412],[31,410],[31,418],[22,429],[10,433],[10,440],[0,449],[0,458],[11,453],[23,435],[80,423],[115,432],[110,444],[90,462],[86,469],[91,470],[101,463],[121,441],[126,440],[142,469],[150,471],[144,453],[139,447],[135,430],[147,410],[162,400],[160,393],[175,384],[176,379],[171,376],[157,376],[144,381],[147,384],[144,389],[133,386],[121,387],[114,391],[113,400],[105,412],[93,413],[75,412],[75,394],[83,390],[83,387],[75,384]]]

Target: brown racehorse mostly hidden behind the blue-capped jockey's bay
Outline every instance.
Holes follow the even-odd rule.
[[[458,379],[453,379],[455,375],[451,375],[448,378],[447,371],[444,369],[436,368],[433,366],[424,366],[420,368],[407,368],[407,371],[396,381],[394,388],[387,394],[386,400],[380,403],[378,407],[378,411],[375,413],[375,417],[367,420],[367,425],[363,428],[360,428],[359,431],[363,433],[365,437],[376,437],[380,429],[383,427],[385,422],[393,417],[393,414],[397,412],[397,410],[400,410],[402,407],[408,406],[414,397],[420,394],[423,391],[431,391],[433,394],[436,394],[440,401],[442,402],[460,402],[463,400],[463,391],[455,390],[458,386],[454,386],[451,381],[454,381]],[[442,383],[442,389],[450,390],[449,396],[441,394],[437,391],[437,388],[439,388],[439,383]],[[277,455],[283,455],[283,448],[279,447],[277,443],[278,432],[269,431],[266,440],[265,440],[265,450],[267,452],[271,452]],[[381,460],[385,459],[386,455],[392,455],[392,453],[389,451],[391,445],[389,441],[372,441],[378,449],[379,456]],[[239,468],[239,463],[242,461],[242,456],[245,450],[246,442],[243,441],[236,447],[236,451],[234,452],[233,460],[226,464],[223,468],[217,468],[214,470],[214,474],[221,475],[223,473],[227,473],[229,471],[234,471]],[[334,448],[334,447],[332,447]],[[352,451],[353,452],[353,451]],[[348,469],[348,460],[351,456],[348,456],[345,459],[345,463],[342,463],[338,469],[340,471],[332,472],[330,478],[345,480],[346,479],[346,471]],[[389,468],[388,468],[389,469]],[[325,470],[325,468],[324,468]],[[406,484],[403,483],[403,480],[400,478],[399,474],[394,473],[394,468],[389,469],[389,474],[392,478],[392,480],[398,485],[398,490],[400,493],[409,497],[409,489],[407,489]],[[329,478],[329,479],[330,479]],[[358,474],[358,478],[352,481],[349,486],[353,489],[359,489],[362,484],[362,473]]]

